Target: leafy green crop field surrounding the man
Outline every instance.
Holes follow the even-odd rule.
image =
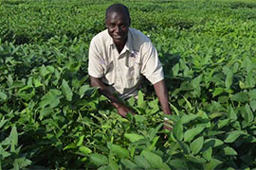
[[[164,66],[172,131],[152,85],[127,119],[89,86],[113,2],[0,2],[0,169],[255,168],[256,2],[122,1]]]

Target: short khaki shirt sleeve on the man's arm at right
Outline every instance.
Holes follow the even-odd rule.
[[[157,51],[152,42],[145,42],[141,49],[142,66],[141,74],[155,84],[164,79],[163,68],[158,59]]]

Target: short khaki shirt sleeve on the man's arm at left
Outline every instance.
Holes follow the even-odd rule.
[[[101,52],[97,47],[96,39],[92,39],[89,47],[89,64],[88,74],[93,77],[102,77],[104,69],[102,67],[103,59],[101,59]]]

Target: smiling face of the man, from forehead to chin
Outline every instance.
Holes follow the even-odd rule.
[[[117,45],[125,44],[130,26],[129,17],[125,13],[111,12],[106,18],[109,35]]]

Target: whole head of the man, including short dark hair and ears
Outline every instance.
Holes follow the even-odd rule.
[[[105,23],[113,41],[117,45],[124,45],[131,24],[128,8],[122,4],[111,5],[106,9]]]

